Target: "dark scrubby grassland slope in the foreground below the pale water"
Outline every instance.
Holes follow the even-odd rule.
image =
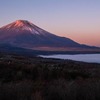
[[[0,54],[0,100],[100,100],[100,64]]]

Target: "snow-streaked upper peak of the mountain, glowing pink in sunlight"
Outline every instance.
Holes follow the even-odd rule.
[[[43,29],[37,27],[36,25],[26,20],[17,20],[9,25],[2,27],[2,29],[14,32],[29,31],[32,34],[38,34],[38,35],[40,34],[44,35],[45,33],[47,33]]]

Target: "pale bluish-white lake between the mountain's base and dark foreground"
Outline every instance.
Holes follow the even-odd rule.
[[[70,59],[75,61],[91,62],[91,63],[100,63],[100,54],[75,54],[75,55],[40,55],[44,58],[59,58],[59,59]]]

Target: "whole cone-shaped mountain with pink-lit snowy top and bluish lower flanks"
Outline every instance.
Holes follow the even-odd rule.
[[[91,48],[69,38],[56,36],[26,20],[17,20],[0,28],[0,44],[22,48]]]

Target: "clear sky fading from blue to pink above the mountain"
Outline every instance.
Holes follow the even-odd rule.
[[[19,19],[100,47],[100,0],[0,0],[0,27]]]

